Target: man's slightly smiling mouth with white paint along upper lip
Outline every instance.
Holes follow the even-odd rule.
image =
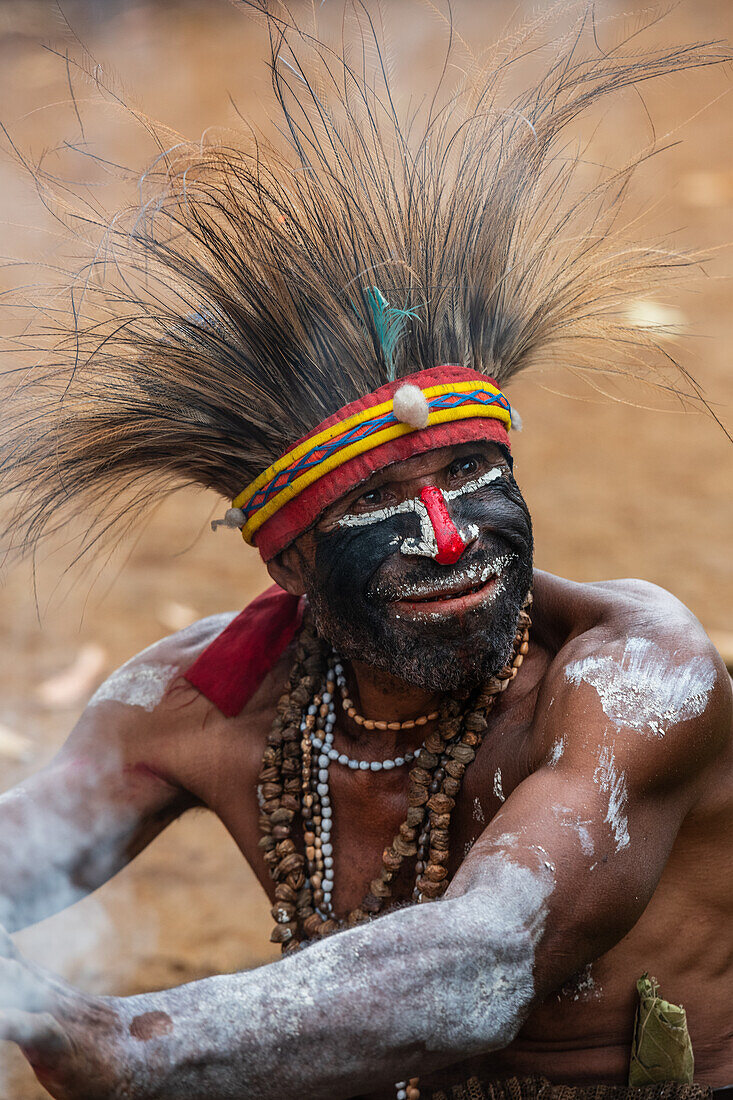
[[[409,618],[457,615],[494,598],[503,586],[503,574],[515,554],[502,554],[485,564],[452,570],[450,576],[405,585],[391,596],[398,616]]]

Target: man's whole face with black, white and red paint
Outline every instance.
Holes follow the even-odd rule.
[[[508,658],[532,549],[501,448],[464,443],[374,474],[285,553],[342,657],[455,691]]]

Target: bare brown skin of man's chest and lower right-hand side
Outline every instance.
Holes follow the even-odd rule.
[[[501,831],[504,801],[541,763],[534,726],[536,695],[518,698],[516,704],[508,698],[507,703],[511,705],[497,707],[492,714],[481,747],[466,768],[450,822],[449,878],[484,829],[493,825],[495,834]],[[276,697],[271,706],[261,705],[256,712],[250,711],[234,722],[212,719],[205,767],[197,776],[200,800],[225,823],[271,901],[274,901],[274,882],[259,840],[262,805],[273,792],[262,781],[260,771],[275,704]],[[338,726],[336,736],[337,746],[347,748],[343,732]],[[371,759],[382,751],[385,756],[393,754],[394,746],[382,745],[376,738],[363,746],[363,755]],[[380,871],[384,849],[405,822],[408,772],[408,766],[376,772],[353,771],[341,766],[331,768],[332,855],[329,858],[333,866],[332,903],[340,919],[360,905]],[[293,838],[303,851],[304,825],[297,815],[293,822]],[[506,842],[505,836],[503,839]],[[581,1042],[592,1048],[598,1044],[598,1057],[608,1079],[621,1072],[621,1063],[627,1060],[626,1035],[633,1020],[636,978],[643,970],[652,969],[665,975],[670,992],[677,988],[675,975],[680,966],[679,960],[670,956],[672,947],[669,945],[677,943],[679,937],[659,935],[660,927],[667,930],[669,923],[670,897],[674,901],[680,889],[679,876],[674,867],[670,870],[671,881],[663,884],[659,902],[655,899],[648,916],[645,914],[623,946],[595,961],[592,970],[579,975],[567,990],[553,994],[533,1013],[522,1035],[507,1049],[506,1064],[494,1067],[496,1071],[546,1070],[549,1042],[556,1049],[554,1075],[558,1079],[572,1079],[582,1068],[576,1065],[573,1054]],[[394,881],[395,902],[404,904],[412,900],[415,878],[415,858],[405,859]],[[694,998],[689,994],[689,985],[687,981],[685,991],[692,1004]],[[590,1008],[593,1010],[591,1015]],[[602,1036],[595,1034],[599,1019],[603,1021]],[[538,1044],[543,1050],[541,1065],[533,1062],[533,1050]],[[620,1059],[619,1066],[613,1058]]]

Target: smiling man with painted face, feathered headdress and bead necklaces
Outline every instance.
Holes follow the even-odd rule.
[[[630,1071],[648,971],[685,1004],[696,1081],[723,1088],[730,681],[667,593],[533,569],[502,392],[566,337],[628,343],[617,286],[658,263],[601,221],[569,232],[591,200],[558,207],[562,125],[720,55],[573,47],[513,111],[478,85],[444,128],[434,101],[415,152],[316,43],[319,76],[339,64],[348,87],[335,119],[282,52],[295,29],[270,28],[296,166],[215,147],[166,169],[165,201],[121,238],[109,330],[75,331],[58,406],[40,414],[32,380],[6,469],[29,539],[62,494],[212,486],[277,587],[118,670],[4,796],[0,845],[12,932],[207,806],[287,957],[91,998],[7,938],[1,1034],[61,1100],[534,1096],[538,1077],[702,1096],[658,1000]]]

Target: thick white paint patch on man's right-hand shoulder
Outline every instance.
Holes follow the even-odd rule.
[[[628,638],[621,660],[591,654],[573,661],[565,674],[570,683],[595,689],[603,713],[617,728],[654,737],[702,714],[715,683],[710,658],[677,664],[674,654],[647,638]]]

